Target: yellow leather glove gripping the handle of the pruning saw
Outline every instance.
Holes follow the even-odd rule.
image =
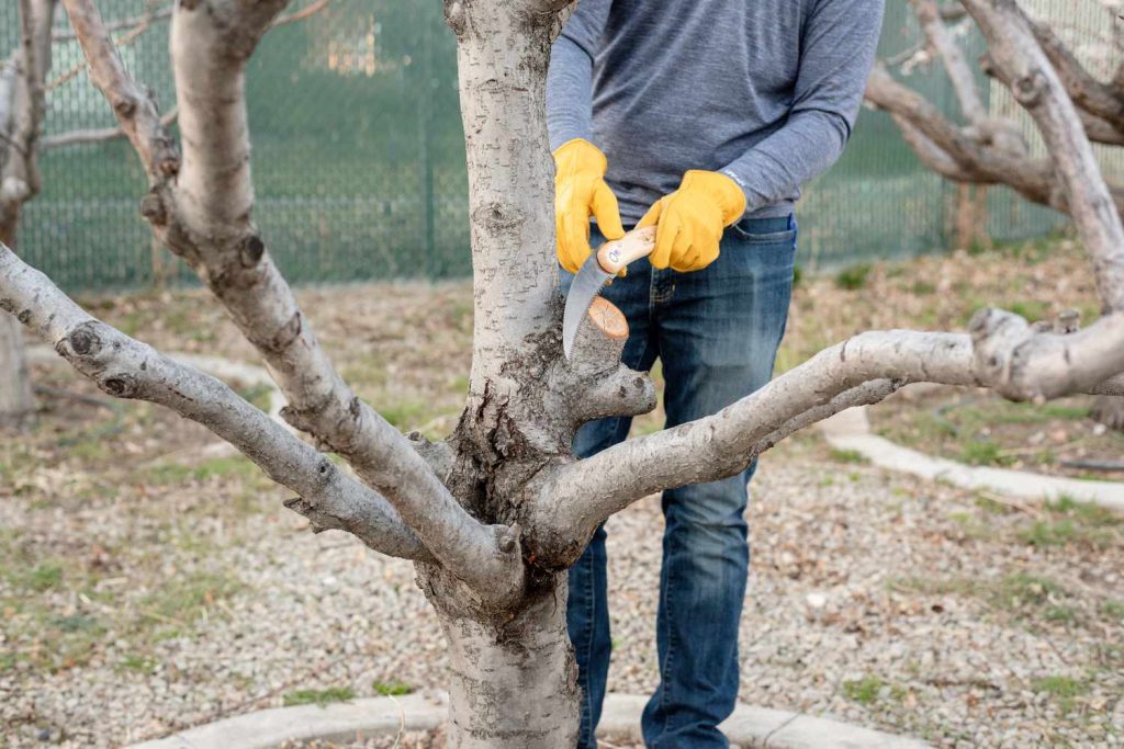
[[[745,212],[745,193],[725,174],[691,170],[679,190],[655,201],[637,229],[654,226],[655,250],[649,261],[680,273],[701,271],[718,258],[723,230]]]

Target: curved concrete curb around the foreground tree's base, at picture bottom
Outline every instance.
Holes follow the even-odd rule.
[[[355,741],[430,731],[445,722],[444,692],[371,697],[318,707],[274,707],[189,729],[129,749],[275,749],[284,741]],[[640,739],[647,697],[610,694],[598,736]],[[770,749],[925,749],[928,745],[872,729],[782,710],[738,705],[722,724],[735,746]]]

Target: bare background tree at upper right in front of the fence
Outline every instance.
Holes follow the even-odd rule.
[[[1014,0],[995,3],[992,16],[982,15],[980,0],[964,0],[961,6],[941,7],[936,0],[909,0],[924,44],[916,52],[937,60],[952,81],[964,125],[957,125],[916,91],[890,76],[883,66],[871,73],[867,100],[889,112],[901,135],[921,161],[949,180],[961,184],[1005,184],[1035,203],[1069,213],[1080,223],[1079,213],[1124,210],[1124,186],[1108,185],[1107,201],[1075,200],[1066,189],[1067,170],[1088,171],[1100,175],[1095,159],[1086,159],[1089,141],[1124,146],[1124,62],[1116,65],[1107,80],[1095,76],[1062,42],[1046,20],[1030,18]],[[977,85],[971,64],[966,60],[949,20],[959,20],[967,10],[987,40],[988,52],[981,57],[982,71],[1010,90],[1037,122],[1057,130],[1068,130],[1053,143],[1049,138],[1049,156],[1034,156],[1019,122],[1014,118],[995,117],[989,111]],[[969,21],[971,22],[971,21]],[[1017,29],[1017,31],[1016,31]],[[1017,33],[1017,36],[1014,36]],[[1043,106],[1040,75],[1014,75],[1000,58],[1016,54],[1013,45],[1026,45],[1022,57],[1031,55],[1052,68],[1062,85],[1059,97],[1069,100],[1073,116],[1061,119],[1048,113]],[[1118,37],[1104,39],[1099,46],[1118,53]],[[1044,58],[1044,60],[1042,60]],[[1024,71],[1025,72],[1025,71]],[[1115,241],[1120,237],[1104,236]],[[1124,287],[1099,286],[1104,312],[1124,311]],[[1124,399],[1102,396],[1094,407],[1094,418],[1124,429]]]

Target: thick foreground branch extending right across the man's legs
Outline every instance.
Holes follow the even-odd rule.
[[[1073,392],[1124,393],[1124,314],[1073,335],[1040,334],[1017,316],[986,310],[962,334],[870,331],[808,362],[718,413],[610,447],[544,476],[531,508],[544,564],[569,564],[609,515],[676,486],[744,469],[796,429],[912,382],[990,386],[1040,400]]]

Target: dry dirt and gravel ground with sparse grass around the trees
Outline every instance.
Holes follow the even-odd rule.
[[[986,302],[1091,319],[1076,257],[1034,244],[804,281],[780,365],[867,327],[962,327]],[[402,429],[452,428],[468,285],[301,295],[363,396]],[[256,360],[200,292],[94,301],[169,350]],[[61,367],[35,376],[96,395]],[[0,436],[0,743],[120,746],[265,706],[443,686],[410,565],[309,533],[282,490],[160,409],[42,404],[35,430]],[[1124,518],[886,474],[810,433],[765,456],[752,494],[744,701],[937,746],[1124,743]],[[610,688],[643,693],[656,678],[658,501],[609,532]]]

